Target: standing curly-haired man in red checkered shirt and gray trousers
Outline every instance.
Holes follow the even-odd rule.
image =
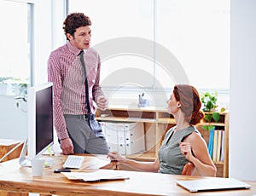
[[[102,131],[91,129],[89,122],[95,119],[93,102],[101,110],[108,105],[99,85],[100,56],[90,48],[90,25],[90,18],[83,13],[68,14],[63,22],[68,42],[49,55],[48,80],[54,85],[55,130],[64,154],[108,153]]]

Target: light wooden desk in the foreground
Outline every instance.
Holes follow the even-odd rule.
[[[20,167],[18,159],[9,160],[0,164],[0,190],[23,193],[43,193],[57,195],[188,195],[188,191],[178,187],[177,180],[189,180],[200,177],[173,176],[158,173],[121,171],[130,180],[113,182],[72,182],[53,170],[60,168],[65,157],[56,157],[51,168],[45,168],[43,177],[32,177],[32,170]],[[86,156],[82,170],[96,170],[108,165],[106,156]],[[113,163],[115,164],[115,163]],[[109,170],[120,172],[120,170]],[[252,185],[248,190],[218,191],[218,195],[253,195],[256,193],[256,182],[247,182]],[[216,195],[217,192],[193,193],[193,195]]]

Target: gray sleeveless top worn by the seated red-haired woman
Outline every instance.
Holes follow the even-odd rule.
[[[175,127],[172,127],[170,130],[168,130],[158,151],[160,160],[160,169],[158,172],[181,175],[184,165],[189,161],[180,152],[179,142],[183,141],[186,136],[190,135],[194,131],[198,132],[198,130],[195,129],[195,126],[189,126],[183,130],[177,130],[173,134],[174,129]]]

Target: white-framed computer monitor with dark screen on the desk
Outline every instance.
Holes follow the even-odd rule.
[[[23,166],[31,166],[34,157],[39,157],[54,144],[52,83],[27,89],[27,118],[28,135],[20,153],[20,165]]]

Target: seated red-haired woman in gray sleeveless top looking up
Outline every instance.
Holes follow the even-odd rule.
[[[175,85],[167,104],[176,126],[166,132],[154,162],[125,159],[118,152],[108,153],[108,158],[136,170],[175,175],[180,175],[184,165],[190,161],[201,176],[216,176],[217,170],[208,153],[207,143],[195,128],[204,118],[198,91],[188,84]]]

